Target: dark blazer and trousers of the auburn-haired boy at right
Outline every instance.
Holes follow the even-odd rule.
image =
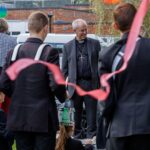
[[[111,72],[113,59],[125,44],[126,39],[127,34],[104,52],[101,73]],[[127,69],[116,75],[115,80],[110,80],[111,91],[114,94],[111,92],[106,103],[113,102],[114,108],[111,117],[108,111],[104,113],[106,118],[110,117],[110,150],[142,150],[140,147],[136,147],[134,143],[135,141],[140,141],[140,136],[143,138],[145,134],[150,134],[149,49],[149,39],[141,38],[138,40]],[[117,69],[119,69],[122,62],[122,60],[119,62]],[[149,137],[145,135],[145,143],[142,140],[140,142],[143,147],[144,145],[149,145],[145,150],[150,149],[150,144],[147,143]]]

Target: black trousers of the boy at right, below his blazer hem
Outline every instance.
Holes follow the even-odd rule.
[[[106,150],[150,150],[150,134],[110,138]]]

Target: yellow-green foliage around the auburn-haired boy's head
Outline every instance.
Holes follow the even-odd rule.
[[[115,5],[104,4],[103,0],[91,0],[92,10],[97,14],[97,34],[100,35],[117,35],[118,33],[113,29],[112,11]],[[122,2],[133,3],[137,8],[141,0],[122,0]],[[147,13],[143,24],[144,34],[150,37],[150,11]]]

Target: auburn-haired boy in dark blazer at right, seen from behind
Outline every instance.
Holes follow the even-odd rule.
[[[136,8],[130,3],[121,3],[115,8],[114,27],[120,30],[122,38],[102,54],[102,74],[118,70],[123,64],[124,49],[135,14]],[[109,121],[107,150],[150,149],[149,50],[150,40],[138,37],[127,69],[109,80],[111,93],[103,112]],[[119,61],[115,61],[116,56]]]

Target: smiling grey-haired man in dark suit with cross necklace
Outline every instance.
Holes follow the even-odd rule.
[[[99,88],[98,59],[100,43],[87,37],[87,23],[83,19],[72,22],[76,37],[66,43],[63,49],[62,72],[68,82],[79,85],[86,91]],[[97,101],[90,96],[79,96],[74,87],[68,86],[70,99],[75,108],[75,138],[84,138],[82,134],[83,103],[86,110],[86,138],[96,135]]]

